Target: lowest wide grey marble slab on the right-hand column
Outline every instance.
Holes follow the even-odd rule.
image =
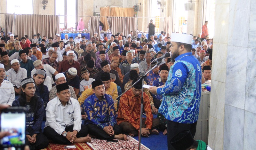
[[[223,149],[243,149],[244,110],[225,105]]]

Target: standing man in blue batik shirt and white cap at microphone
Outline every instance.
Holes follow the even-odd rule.
[[[172,33],[172,59],[167,81],[163,87],[150,87],[153,94],[163,95],[158,112],[167,119],[168,150],[174,148],[171,138],[182,130],[196,134],[201,100],[201,67],[191,52],[193,36]]]

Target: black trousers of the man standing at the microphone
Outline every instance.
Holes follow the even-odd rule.
[[[196,123],[191,123],[191,124],[185,124],[185,123],[178,123],[178,122],[173,122],[170,120],[167,120],[167,145],[168,145],[168,150],[175,150],[171,146],[171,139],[174,137],[177,133],[183,131],[183,130],[190,130],[193,138],[196,134]]]

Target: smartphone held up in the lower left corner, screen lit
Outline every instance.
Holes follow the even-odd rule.
[[[8,131],[9,136],[1,139],[2,147],[24,147],[26,138],[25,107],[9,107],[1,113],[1,132]]]

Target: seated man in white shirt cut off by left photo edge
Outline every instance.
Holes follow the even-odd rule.
[[[5,75],[4,64],[0,64],[0,104],[12,106],[15,100],[14,88],[11,82],[4,80]]]

